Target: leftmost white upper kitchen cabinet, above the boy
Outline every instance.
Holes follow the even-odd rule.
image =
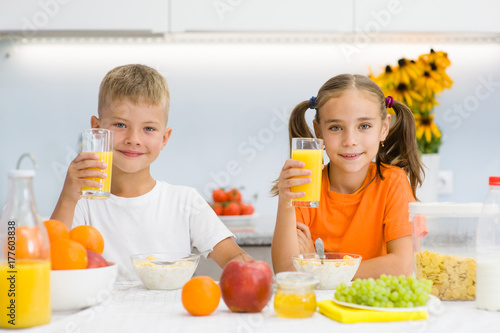
[[[0,0],[0,32],[163,33],[168,0]]]

